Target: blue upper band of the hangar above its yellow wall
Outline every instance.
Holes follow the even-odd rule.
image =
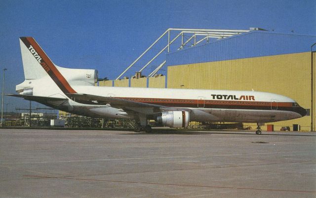
[[[167,66],[311,51],[316,36],[251,31],[169,53]]]

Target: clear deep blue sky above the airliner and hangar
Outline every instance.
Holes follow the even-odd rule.
[[[24,80],[21,36],[34,37],[58,66],[98,69],[114,79],[168,28],[316,35],[315,10],[315,0],[0,0],[5,93]],[[0,76],[2,82],[2,70]],[[8,110],[28,104],[4,103],[12,103]]]

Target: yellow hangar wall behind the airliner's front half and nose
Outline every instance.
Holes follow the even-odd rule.
[[[316,53],[313,58],[315,68]],[[287,96],[310,109],[311,52],[168,66],[167,88],[180,88],[180,85],[184,85],[185,89],[270,92]],[[313,117],[316,124],[315,113]],[[289,126],[293,130],[293,124],[301,125],[301,131],[310,131],[311,116],[269,124],[275,125],[276,131],[281,126]]]

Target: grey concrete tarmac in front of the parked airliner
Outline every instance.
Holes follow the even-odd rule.
[[[0,197],[316,197],[315,132],[0,130]]]

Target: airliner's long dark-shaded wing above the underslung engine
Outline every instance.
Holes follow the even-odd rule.
[[[113,97],[102,97],[89,94],[67,94],[70,99],[83,104],[100,104],[111,105],[114,108],[123,109],[125,111],[134,111],[137,113],[154,114],[161,111],[179,110],[175,107],[162,106],[157,104],[148,104],[143,102],[131,101],[126,99],[118,99]],[[181,108],[183,109],[183,108]],[[191,111],[188,109],[188,111]]]

